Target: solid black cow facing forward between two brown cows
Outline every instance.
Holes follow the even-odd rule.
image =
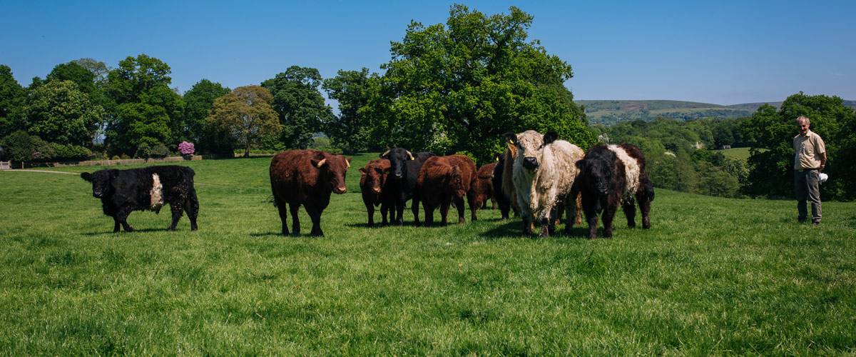
[[[389,187],[389,193],[395,197],[395,219],[393,220],[395,224],[404,224],[404,205],[407,199],[413,199],[410,203],[413,223],[419,225],[419,193],[416,192],[416,180],[419,178],[419,169],[422,168],[422,164],[432,156],[434,154],[431,152],[418,152],[414,156],[413,153],[401,147],[380,155],[381,158],[389,160],[390,164],[387,187]]]

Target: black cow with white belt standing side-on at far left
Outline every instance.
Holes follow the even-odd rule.
[[[113,232],[119,226],[133,231],[128,224],[131,211],[152,210],[160,212],[169,204],[172,223],[169,230],[181,219],[182,211],[190,218],[190,230],[196,230],[199,215],[199,200],[193,188],[193,169],[185,166],[149,166],[131,170],[98,170],[92,174],[84,172],[80,177],[92,182],[92,196],[101,199],[104,214],[113,217]]]

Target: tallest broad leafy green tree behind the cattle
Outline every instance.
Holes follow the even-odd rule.
[[[502,151],[502,134],[537,129],[590,146],[594,135],[564,86],[571,66],[528,38],[531,25],[515,7],[484,15],[460,4],[445,24],[411,22],[366,110],[383,144],[487,160]]]

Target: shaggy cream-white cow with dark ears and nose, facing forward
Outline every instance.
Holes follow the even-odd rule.
[[[555,227],[557,205],[567,205],[576,212],[576,196],[571,187],[577,176],[574,164],[585,155],[580,147],[565,140],[556,140],[556,133],[546,135],[529,130],[521,134],[508,134],[507,139],[517,146],[514,160],[514,192],[525,234],[532,234],[533,223],[542,223],[541,235],[550,235]],[[568,214],[566,231],[573,225],[575,214]]]

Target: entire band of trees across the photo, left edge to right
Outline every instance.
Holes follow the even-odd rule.
[[[556,131],[587,149],[630,142],[642,148],[657,187],[726,197],[789,197],[796,116],[811,117],[827,140],[823,194],[856,198],[854,112],[841,98],[789,97],[751,117],[589,125],[565,81],[574,72],[527,30],[532,15],[511,7],[485,15],[455,4],[445,23],[412,21],[389,46],[381,73],[290,66],[261,83],[230,89],[199,80],[172,88],[166,62],[140,54],[110,67],[83,58],[21,86],[0,65],[0,146],[15,161],[160,157],[181,141],[200,153],[324,146],[346,153],[402,146],[463,153],[484,164],[502,152],[502,134]],[[338,114],[324,94],[338,102]],[[319,134],[327,138],[319,137]],[[710,148],[752,147],[743,162]]]

